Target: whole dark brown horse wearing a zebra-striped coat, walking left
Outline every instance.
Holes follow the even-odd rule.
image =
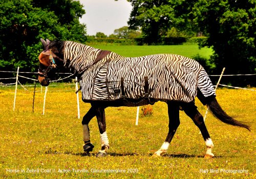
[[[250,131],[248,125],[228,116],[221,108],[207,73],[193,59],[173,54],[129,58],[73,41],[40,40],[44,51],[38,56],[39,83],[48,86],[54,69],[68,68],[78,76],[83,102],[91,103],[82,119],[83,151],[87,154],[94,148],[88,124],[95,116],[101,139],[101,149],[96,156],[106,155],[110,148],[104,111],[109,106],[140,106],[157,101],[167,104],[169,130],[153,156],[166,153],[180,125],[179,111],[183,110],[202,133],[206,144],[204,158],[214,157],[214,144],[195,105],[196,97],[220,121]]]

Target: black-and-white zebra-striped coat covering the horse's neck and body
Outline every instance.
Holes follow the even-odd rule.
[[[114,52],[93,64],[99,49],[65,42],[65,63],[81,73],[83,100],[122,98],[123,78],[126,99],[145,97],[144,77],[148,78],[148,98],[190,102],[199,88],[205,97],[215,96],[207,73],[195,60],[173,54],[122,57]]]

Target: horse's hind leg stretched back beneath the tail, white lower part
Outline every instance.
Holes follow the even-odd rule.
[[[211,152],[211,149],[214,147],[214,144],[212,143],[210,139],[210,135],[207,131],[207,128],[204,124],[204,119],[203,116],[199,113],[197,110],[197,107],[195,106],[194,103],[183,103],[182,108],[184,112],[186,113],[187,116],[189,116],[194,123],[198,126],[200,129],[202,136],[204,138],[207,150],[204,158],[212,158],[214,157],[214,154]]]

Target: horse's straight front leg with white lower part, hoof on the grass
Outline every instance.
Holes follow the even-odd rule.
[[[96,156],[106,155],[106,151],[110,148],[109,139],[106,135],[106,122],[105,122],[105,107],[97,107],[96,117],[99,126],[100,140],[101,140],[101,150],[97,153]]]

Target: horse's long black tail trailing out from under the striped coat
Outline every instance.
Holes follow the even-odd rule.
[[[250,127],[248,125],[240,121],[237,121],[233,117],[226,114],[226,112],[221,108],[220,104],[215,98],[215,95],[210,97],[204,97],[200,90],[198,90],[197,97],[204,105],[206,104],[208,106],[208,108],[211,111],[211,114],[214,115],[214,117],[216,117],[220,121],[233,126],[244,127],[250,131]]]

